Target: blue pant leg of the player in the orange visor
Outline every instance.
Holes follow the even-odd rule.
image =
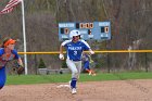
[[[0,89],[2,89],[2,87],[5,84],[5,67],[0,68]]]

